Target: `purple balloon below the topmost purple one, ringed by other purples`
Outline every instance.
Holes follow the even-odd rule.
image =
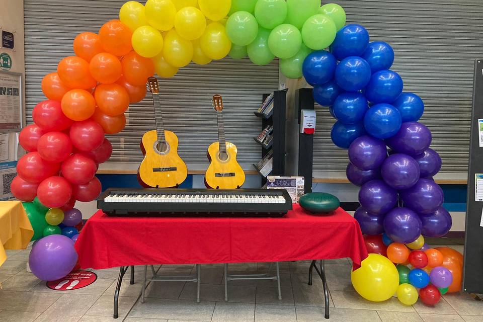
[[[389,155],[382,164],[382,179],[392,188],[411,188],[419,179],[419,164],[408,154]]]

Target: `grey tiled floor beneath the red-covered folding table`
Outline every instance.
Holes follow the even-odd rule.
[[[462,246],[454,246],[462,252]],[[148,285],[145,303],[139,302],[141,268],[135,284],[125,275],[119,297],[119,318],[112,318],[118,269],[95,271],[98,280],[85,288],[53,291],[26,271],[29,250],[8,251],[0,267],[0,322],[313,322],[324,321],[324,293],[318,276],[307,285],[309,262],[281,263],[282,300],[275,281],[231,281],[229,301],[223,301],[223,267],[202,266],[201,303],[195,302],[196,285],[156,282]],[[230,273],[261,272],[266,263],[230,265]],[[162,274],[186,275],[191,265],[156,267]],[[326,261],[330,289],[330,321],[379,322],[483,322],[483,301],[465,293],[444,295],[435,306],[421,302],[405,306],[393,297],[374,303],[361,298],[350,282],[348,259]],[[149,274],[149,273],[148,273]],[[316,278],[315,278],[316,277]]]

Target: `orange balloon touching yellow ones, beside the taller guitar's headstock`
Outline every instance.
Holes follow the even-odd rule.
[[[131,51],[121,59],[122,74],[132,85],[145,85],[147,78],[154,75],[154,64],[150,58],[145,58]]]

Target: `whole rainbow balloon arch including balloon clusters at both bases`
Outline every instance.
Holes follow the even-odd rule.
[[[69,238],[77,238],[82,216],[74,203],[99,196],[95,174],[112,153],[104,135],[122,131],[124,112],[144,98],[149,76],[172,77],[191,61],[227,55],[257,65],[278,57],[281,72],[304,76],[315,101],[337,119],[331,138],[348,149],[347,178],[361,187],[354,217],[370,255],[351,274],[355,290],[370,301],[396,293],[408,305],[418,295],[435,304],[459,291],[462,255],[424,242],[446,234],[451,216],[432,179],[441,158],[418,122],[423,101],[402,93],[401,77],[389,69],[391,46],[369,42],[363,26],[345,23],[339,5],[320,7],[319,0],[147,0],[125,3],[119,20],[99,34],[77,35],[75,56],[43,78],[47,100],[20,133],[28,153],[12,192],[24,201],[33,240],[40,239],[29,259],[32,272],[55,280],[75,267]]]

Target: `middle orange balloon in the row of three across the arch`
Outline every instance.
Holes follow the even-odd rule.
[[[121,61],[108,52],[102,52],[92,57],[89,63],[91,75],[102,84],[112,84],[121,77]]]

